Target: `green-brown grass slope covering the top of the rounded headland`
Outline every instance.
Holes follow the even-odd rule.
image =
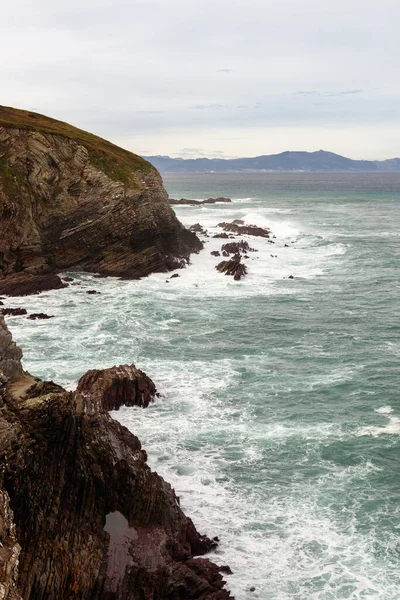
[[[133,171],[149,172],[154,170],[150,163],[128,150],[115,146],[97,135],[83,131],[83,129],[39,113],[0,106],[0,127],[28,129],[74,140],[88,149],[92,161],[99,169],[110,178],[124,183],[131,180]]]

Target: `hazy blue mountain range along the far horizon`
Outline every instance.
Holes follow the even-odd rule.
[[[221,173],[227,171],[400,172],[400,158],[352,160],[333,152],[282,152],[255,158],[170,158],[144,156],[161,173]]]

